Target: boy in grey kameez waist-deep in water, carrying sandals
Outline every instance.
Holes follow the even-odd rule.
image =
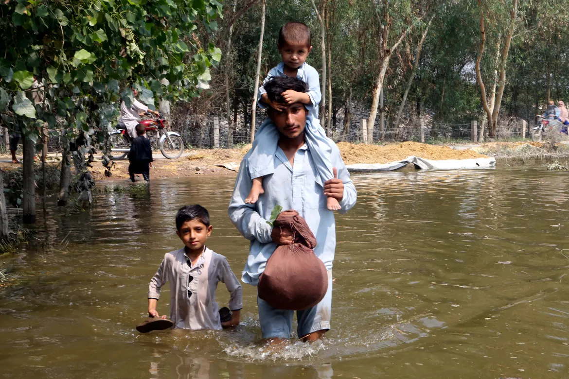
[[[171,326],[221,330],[222,327],[239,324],[241,284],[225,257],[205,247],[212,229],[209,213],[204,207],[196,204],[180,208],[176,214],[176,234],[184,247],[164,255],[149,285],[148,313],[151,318],[139,324],[138,331],[144,333]],[[170,282],[171,322],[156,311],[160,289],[167,281]],[[229,309],[232,313],[227,308],[218,308],[215,301],[218,282],[224,282],[230,293]],[[222,320],[224,316],[227,319]]]

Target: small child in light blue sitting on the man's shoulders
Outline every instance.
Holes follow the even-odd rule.
[[[288,105],[301,102],[308,109],[306,142],[318,171],[316,182],[323,186],[325,181],[334,177],[329,158],[332,151],[331,145],[334,143],[326,137],[318,120],[318,105],[322,97],[318,71],[306,63],[306,59],[312,50],[310,28],[300,22],[285,24],[279,32],[277,48],[281,54],[282,62],[269,71],[263,81],[263,86],[277,76],[296,77],[308,84],[308,92],[287,90],[282,93],[282,97]],[[263,86],[259,88],[259,107],[270,106],[275,110],[282,111],[286,105],[271,101]],[[278,139],[278,131],[267,118],[259,127],[251,148],[252,152],[248,162],[253,185],[245,203],[257,202],[259,195],[265,192],[263,190],[263,176],[274,173],[274,156]],[[328,197],[327,207],[329,210],[341,209],[340,203],[332,197]]]

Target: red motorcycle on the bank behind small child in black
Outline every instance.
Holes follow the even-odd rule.
[[[146,138],[150,140],[153,149],[159,148],[167,159],[176,159],[182,155],[184,152],[182,136],[167,130],[166,119],[162,114],[154,119],[142,120],[140,123],[145,126]],[[109,135],[110,159],[125,159],[130,151],[131,142],[132,138],[126,128],[117,125]]]

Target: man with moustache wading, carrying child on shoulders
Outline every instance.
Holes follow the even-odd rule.
[[[316,168],[311,153],[304,143],[304,128],[312,118],[303,103],[291,105],[284,102],[281,94],[286,90],[306,92],[306,84],[291,77],[275,77],[265,85],[267,95],[282,103],[283,110],[268,109],[267,115],[279,131],[277,151],[274,155],[274,173],[263,178],[265,193],[254,204],[246,204],[251,190],[249,153],[241,161],[235,189],[229,204],[229,217],[246,239],[251,240],[249,257],[242,281],[256,286],[267,260],[277,245],[292,243],[290,232],[273,229],[267,222],[275,206],[284,210],[294,209],[302,216],[316,236],[314,253],[328,271],[328,291],[318,305],[296,312],[298,336],[303,341],[321,338],[330,329],[332,306],[332,263],[336,248],[334,214],[327,209],[328,197],[335,197],[343,212],[356,203],[356,188],[341,159],[340,151],[333,146],[330,160],[337,169],[337,178],[316,184]],[[259,320],[263,339],[283,341],[290,338],[294,311],[275,309],[257,297]]]

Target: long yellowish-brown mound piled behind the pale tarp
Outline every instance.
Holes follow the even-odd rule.
[[[389,163],[414,155],[424,159],[473,159],[485,155],[472,150],[455,150],[447,146],[434,146],[417,142],[378,146],[340,142],[337,144],[345,164]]]

